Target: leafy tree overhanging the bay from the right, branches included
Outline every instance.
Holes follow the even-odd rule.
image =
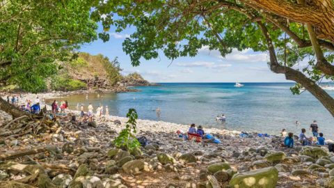
[[[333,79],[333,15],[331,0],[202,0],[202,1],[101,1],[92,19],[102,22],[102,40],[109,28],[122,31],[135,26],[123,42],[132,65],[163,53],[170,59],[196,56],[202,47],[221,56],[232,49],[268,52],[272,72],[296,81],[334,116],[334,100],[318,82]],[[299,68],[298,63],[308,61]]]

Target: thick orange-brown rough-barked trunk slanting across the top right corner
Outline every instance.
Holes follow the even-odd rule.
[[[242,0],[248,6],[267,10],[296,22],[317,28],[317,38],[334,41],[334,2],[314,0],[312,4],[298,4],[287,0]]]

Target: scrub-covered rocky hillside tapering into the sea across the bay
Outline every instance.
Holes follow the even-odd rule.
[[[127,86],[148,86],[150,83],[137,73],[126,77],[120,75],[117,58],[109,58],[98,54],[92,56],[79,53],[78,58],[61,64],[63,69],[51,81],[51,90],[73,91],[80,89],[111,89],[116,92],[129,91]]]

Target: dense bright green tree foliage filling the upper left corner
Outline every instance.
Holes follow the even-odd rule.
[[[0,2],[0,83],[25,91],[46,88],[56,73],[55,60],[97,38],[85,0],[4,0]]]

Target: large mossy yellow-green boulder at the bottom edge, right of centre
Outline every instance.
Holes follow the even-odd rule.
[[[230,181],[230,187],[257,187],[267,188],[276,187],[278,180],[278,171],[275,167],[257,169],[245,173],[237,173]]]

